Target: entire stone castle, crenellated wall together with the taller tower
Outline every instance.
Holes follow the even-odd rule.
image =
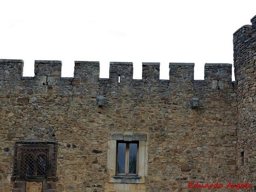
[[[206,63],[204,80],[194,63],[169,63],[164,80],[157,62],[133,79],[132,62],[110,62],[100,78],[98,61],[75,61],[74,77],[61,77],[61,61],[36,60],[23,77],[23,60],[0,60],[0,191],[256,188],[251,21],[234,33],[236,82],[228,63]]]

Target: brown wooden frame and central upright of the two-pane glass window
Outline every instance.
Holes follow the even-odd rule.
[[[118,173],[117,172],[117,160],[118,160],[118,144],[119,143],[125,143],[126,148],[125,148],[125,171],[124,173]],[[137,144],[137,159],[136,159],[136,173],[129,173],[129,148],[130,144]],[[138,166],[139,165],[139,141],[117,141],[116,142],[116,175],[123,175],[123,176],[137,176],[138,175]]]

